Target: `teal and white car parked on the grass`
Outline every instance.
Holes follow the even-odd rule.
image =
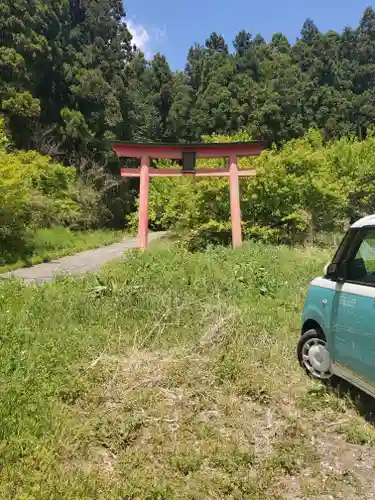
[[[337,375],[375,397],[375,215],[350,227],[310,283],[297,355],[313,378]]]

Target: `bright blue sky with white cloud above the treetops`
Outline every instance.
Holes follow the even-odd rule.
[[[355,27],[369,0],[124,0],[126,21],[138,46],[152,57],[164,54],[172,69],[183,69],[194,42],[212,31],[227,44],[241,29],[266,40],[281,31],[294,42],[307,17],[321,31]]]

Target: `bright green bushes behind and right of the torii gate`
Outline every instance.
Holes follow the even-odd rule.
[[[228,142],[249,137],[213,136]],[[240,167],[255,167],[255,178],[241,180],[244,235],[274,243],[303,243],[317,235],[342,233],[352,219],[375,207],[375,138],[343,138],[323,143],[311,130],[300,139],[275,147],[258,158],[242,158]],[[163,164],[165,166],[165,163]],[[170,166],[170,164],[169,164]],[[200,160],[199,167],[223,166],[223,160]],[[133,216],[132,224],[136,224]],[[190,249],[230,242],[227,179],[153,179],[150,224],[174,229]],[[323,238],[324,239],[324,238]]]

